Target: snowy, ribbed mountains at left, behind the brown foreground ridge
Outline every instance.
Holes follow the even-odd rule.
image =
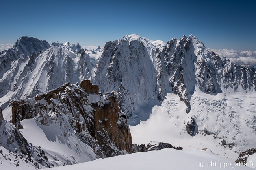
[[[34,97],[65,82],[92,79],[101,52],[81,49],[79,44],[52,43],[21,37],[0,56],[0,105],[11,100]],[[5,111],[4,111],[5,114]],[[10,119],[10,114],[5,119]]]

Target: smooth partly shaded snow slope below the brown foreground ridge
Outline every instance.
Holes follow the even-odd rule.
[[[63,123],[67,124],[67,122]],[[24,129],[20,130],[28,142],[40,146],[48,160],[55,166],[70,165],[74,163],[95,160],[96,156],[92,148],[78,139],[75,131],[63,136],[65,128],[54,122],[44,126],[35,119],[24,119],[21,122]],[[64,132],[63,132],[64,129]]]

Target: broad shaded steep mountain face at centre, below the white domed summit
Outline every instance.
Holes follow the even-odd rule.
[[[96,66],[94,83],[103,93],[114,91],[121,108],[131,117],[141,105],[156,99],[156,75],[142,43],[115,40],[105,44]]]

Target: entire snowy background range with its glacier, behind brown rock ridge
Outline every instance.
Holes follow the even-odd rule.
[[[126,35],[92,50],[22,37],[0,61],[0,106],[7,120],[14,119],[12,100],[89,79],[117,97],[133,142],[204,146],[232,160],[255,148],[255,69],[208,51],[193,35],[166,44]]]

